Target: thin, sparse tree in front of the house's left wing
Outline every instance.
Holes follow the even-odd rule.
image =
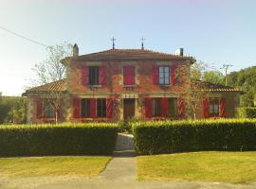
[[[56,44],[55,46],[47,47],[47,50],[48,58],[43,62],[36,64],[32,69],[37,76],[35,79],[32,79],[32,83],[34,84],[42,85],[61,80],[66,77],[65,67],[64,64],[61,63],[61,60],[63,60],[65,57],[71,56],[72,44]],[[57,124],[58,114],[60,112],[64,94],[63,92],[46,92],[44,96],[53,109],[55,123]]]

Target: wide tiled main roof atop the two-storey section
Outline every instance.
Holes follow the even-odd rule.
[[[70,57],[73,60],[195,60],[192,57],[178,56],[143,49],[110,49],[98,53]]]

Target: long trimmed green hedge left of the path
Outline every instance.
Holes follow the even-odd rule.
[[[0,156],[109,155],[116,124],[0,126]]]

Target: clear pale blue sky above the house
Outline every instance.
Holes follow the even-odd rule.
[[[255,0],[0,0],[0,26],[46,45],[78,43],[80,54],[112,47],[184,54],[221,72],[256,65]],[[46,47],[0,28],[0,92],[21,95]]]

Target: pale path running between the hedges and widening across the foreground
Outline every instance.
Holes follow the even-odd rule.
[[[0,177],[0,189],[255,189],[251,185],[202,181],[137,181],[136,154],[133,136],[119,133],[113,160],[101,175],[94,179],[81,177],[40,177],[4,180]]]

